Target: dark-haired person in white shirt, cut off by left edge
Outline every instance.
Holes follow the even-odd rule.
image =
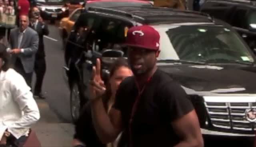
[[[24,77],[10,67],[10,54],[0,44],[0,145],[22,147],[40,118]]]

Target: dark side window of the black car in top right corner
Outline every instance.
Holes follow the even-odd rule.
[[[232,17],[232,26],[238,27],[238,28],[244,28],[244,29],[248,29],[247,25],[246,25],[246,14],[248,12],[247,8],[243,8],[243,7],[238,7],[235,11],[234,11],[234,15]]]

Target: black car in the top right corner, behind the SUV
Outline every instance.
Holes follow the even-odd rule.
[[[256,51],[255,0],[206,0],[200,11],[228,22],[250,48]]]

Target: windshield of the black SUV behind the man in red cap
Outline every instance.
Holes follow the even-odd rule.
[[[160,33],[158,60],[254,62],[238,35],[222,26],[158,26],[156,30]]]

